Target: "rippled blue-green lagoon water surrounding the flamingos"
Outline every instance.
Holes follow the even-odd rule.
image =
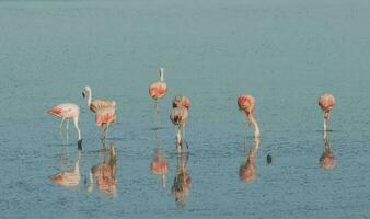
[[[370,3],[368,1],[1,1],[0,209],[3,218],[368,218],[370,216]],[[157,146],[148,84],[166,69],[160,149],[166,187],[149,169]],[[81,96],[115,100],[117,195],[88,193],[99,162],[94,116]],[[336,97],[328,132],[337,160],[320,168],[319,94]],[[186,138],[192,177],[185,205],[171,194],[177,153],[169,120],[176,93],[190,97]],[[257,176],[239,178],[252,146],[236,96],[256,97]],[[78,187],[54,185],[63,146],[59,119],[80,105]],[[71,128],[70,141],[74,131]],[[273,155],[273,164],[266,155]],[[71,165],[70,164],[70,165]]]

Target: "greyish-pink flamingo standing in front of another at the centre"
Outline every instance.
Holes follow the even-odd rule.
[[[178,152],[181,152],[183,147],[184,128],[187,116],[187,110],[184,106],[172,108],[170,112],[170,119],[176,126],[176,147]]]

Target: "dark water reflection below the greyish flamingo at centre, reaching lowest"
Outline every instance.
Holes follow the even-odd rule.
[[[185,198],[189,193],[192,178],[187,171],[188,152],[177,154],[177,173],[173,181],[172,194],[175,197],[177,209],[184,209]]]

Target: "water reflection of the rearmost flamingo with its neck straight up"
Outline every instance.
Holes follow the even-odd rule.
[[[163,151],[160,150],[160,138],[158,135],[158,129],[153,130],[154,132],[154,153],[153,159],[150,162],[150,171],[155,175],[162,176],[162,187],[165,187],[165,174],[169,171],[169,163],[165,160],[165,154]]]

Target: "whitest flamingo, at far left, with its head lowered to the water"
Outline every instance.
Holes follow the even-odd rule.
[[[67,120],[66,129],[68,132],[69,119],[73,119],[74,128],[78,134],[78,149],[82,149],[82,138],[81,138],[81,130],[79,128],[79,116],[80,116],[80,108],[78,105],[73,103],[62,103],[53,108],[47,110],[48,114],[61,117],[61,123],[59,126],[59,130],[61,131],[62,125],[65,120]]]

